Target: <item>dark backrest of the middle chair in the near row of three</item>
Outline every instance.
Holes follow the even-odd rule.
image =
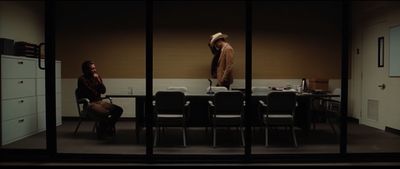
[[[241,114],[244,97],[240,91],[221,91],[214,95],[215,114]]]

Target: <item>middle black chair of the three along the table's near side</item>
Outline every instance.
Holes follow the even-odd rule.
[[[209,113],[213,127],[213,147],[216,147],[216,128],[219,126],[239,126],[242,146],[244,146],[243,118],[244,98],[240,91],[221,91],[214,95],[214,100],[209,101]],[[228,123],[228,124],[227,124]]]

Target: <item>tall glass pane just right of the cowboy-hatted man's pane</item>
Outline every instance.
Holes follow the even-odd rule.
[[[253,3],[253,154],[339,152],[338,116],[322,97],[340,88],[341,12],[338,2]],[[274,104],[279,91],[296,93],[294,107]]]

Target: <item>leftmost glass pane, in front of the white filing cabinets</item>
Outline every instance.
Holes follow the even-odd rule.
[[[0,11],[1,148],[45,149],[45,79],[37,59],[44,53],[44,2],[2,1]]]

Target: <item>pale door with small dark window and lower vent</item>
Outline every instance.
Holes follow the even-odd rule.
[[[385,126],[382,112],[385,107],[384,98],[388,77],[387,65],[384,64],[383,67],[378,67],[378,38],[384,37],[384,42],[387,41],[385,25],[385,22],[380,22],[366,27],[362,41],[364,57],[362,59],[362,109],[360,122],[379,129],[384,129]],[[388,52],[386,51],[383,55],[387,55]],[[387,58],[386,56],[383,57]]]

